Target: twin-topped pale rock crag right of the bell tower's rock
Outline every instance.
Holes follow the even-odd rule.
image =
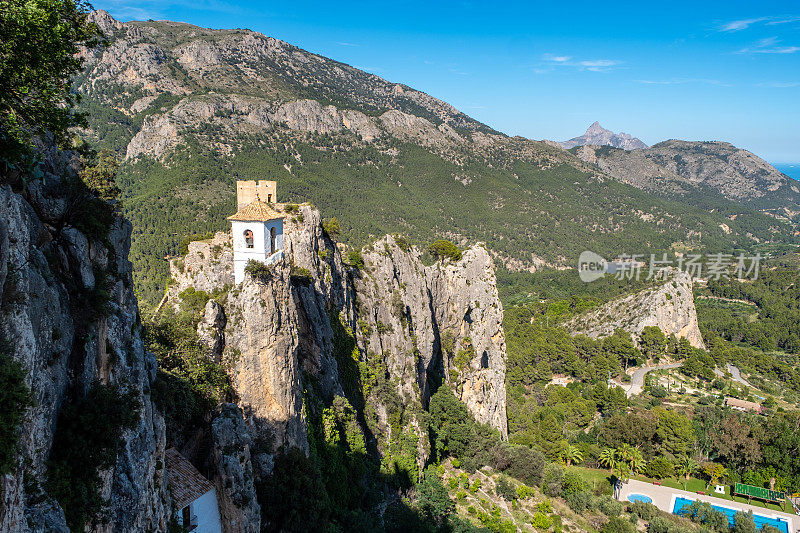
[[[401,394],[427,405],[431,382],[445,375],[475,418],[505,437],[503,310],[486,249],[425,266],[419,250],[386,236],[364,261],[355,282],[364,346],[384,355]]]

